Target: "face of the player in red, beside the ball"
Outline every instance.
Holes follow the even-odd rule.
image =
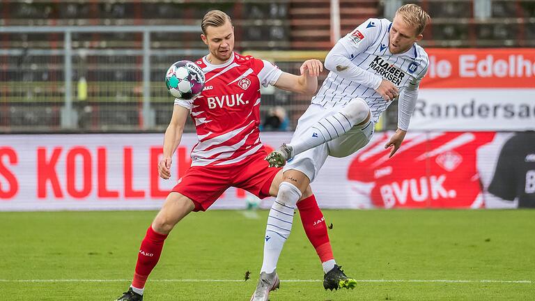
[[[234,27],[231,22],[222,26],[206,27],[206,36],[201,34],[203,42],[208,45],[213,64],[220,64],[231,58],[234,49]]]

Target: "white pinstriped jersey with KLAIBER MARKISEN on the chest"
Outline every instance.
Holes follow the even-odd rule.
[[[353,82],[336,72],[329,72],[318,94],[312,98],[312,103],[334,107],[346,105],[357,97],[362,98],[371,109],[373,121],[377,123],[380,114],[391,102],[375,92],[373,83],[377,88],[381,79],[388,79],[398,87],[400,95],[408,85],[418,86],[426,75],[428,56],[416,43],[405,53],[391,54],[388,47],[391,24],[387,19],[369,19],[341,38],[338,44],[346,49],[348,59],[357,68],[365,70],[364,80]]]

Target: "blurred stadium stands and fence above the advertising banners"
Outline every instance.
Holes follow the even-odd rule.
[[[369,17],[391,19],[401,0],[45,1],[0,3],[2,132],[161,132],[172,100],[163,75],[206,54],[200,20],[233,18],[236,51],[297,72]],[[424,47],[534,47],[535,1],[425,0]],[[316,52],[309,52],[316,51]],[[265,53],[267,52],[267,53]],[[264,91],[262,116],[286,111],[293,130],[309,95]],[[396,127],[395,104],[385,129]],[[191,122],[187,131],[193,131]]]

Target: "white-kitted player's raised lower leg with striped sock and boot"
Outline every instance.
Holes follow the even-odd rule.
[[[314,110],[318,107],[311,106],[309,109]],[[370,108],[361,98],[355,98],[348,105],[339,107],[339,109],[323,109],[323,111],[318,112],[318,116],[325,114],[325,112],[328,116],[320,118],[315,123],[310,123],[311,117],[307,116],[308,112],[303,115],[304,120],[310,123],[307,130],[300,132],[298,139],[293,139],[290,144],[283,144],[279,149],[267,155],[265,160],[270,163],[271,167],[282,167],[295,155],[339,138],[355,125],[367,123],[371,118]],[[300,122],[301,120],[300,118]]]

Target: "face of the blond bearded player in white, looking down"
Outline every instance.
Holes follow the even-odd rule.
[[[403,22],[403,17],[396,15],[390,32],[388,33],[389,44],[388,49],[391,54],[400,54],[406,52],[412,44],[418,42],[423,37],[421,34],[417,34],[416,26],[409,26]]]

